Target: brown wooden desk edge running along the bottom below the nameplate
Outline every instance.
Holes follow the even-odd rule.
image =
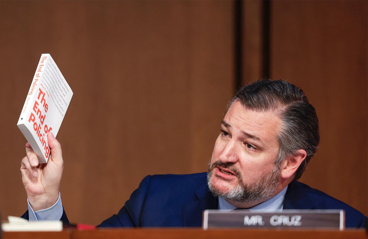
[[[93,231],[64,230],[62,232],[4,232],[3,239],[367,239],[367,232],[362,230],[313,231],[284,229],[96,229]]]

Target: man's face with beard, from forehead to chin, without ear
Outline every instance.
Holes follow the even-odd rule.
[[[208,165],[208,184],[218,196],[234,202],[256,202],[276,192],[281,119],[273,112],[245,109],[236,100],[221,124]]]

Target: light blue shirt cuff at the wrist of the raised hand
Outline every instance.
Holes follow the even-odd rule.
[[[49,208],[33,212],[31,205],[29,205],[28,198],[27,203],[28,203],[29,221],[43,221],[43,220],[59,221],[61,216],[63,215],[63,204],[61,203],[60,192],[59,198],[57,199],[56,203]]]

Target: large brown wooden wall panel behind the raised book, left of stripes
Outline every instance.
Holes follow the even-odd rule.
[[[71,222],[117,213],[147,174],[203,172],[233,95],[231,1],[1,1],[0,212],[20,216],[16,126],[42,53],[74,91],[57,139]]]

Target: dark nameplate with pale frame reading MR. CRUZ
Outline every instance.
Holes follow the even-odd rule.
[[[344,210],[205,210],[203,229],[208,228],[345,228]]]

